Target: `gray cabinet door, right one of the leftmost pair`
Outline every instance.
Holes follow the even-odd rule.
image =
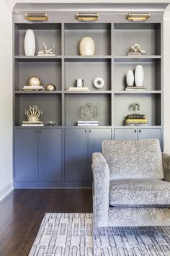
[[[61,129],[39,129],[39,180],[61,181]]]

